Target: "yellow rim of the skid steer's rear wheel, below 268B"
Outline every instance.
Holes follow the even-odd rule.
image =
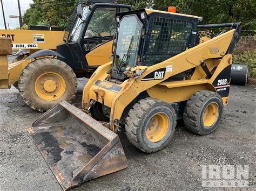
[[[217,121],[219,116],[219,107],[217,103],[210,103],[204,110],[203,122],[206,128],[211,126]]]

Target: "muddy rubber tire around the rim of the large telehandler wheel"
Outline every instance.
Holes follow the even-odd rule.
[[[46,72],[58,73],[66,82],[65,92],[62,97],[57,100],[43,100],[38,97],[35,92],[35,81],[37,77]],[[18,81],[18,89],[24,102],[28,104],[30,108],[43,112],[52,108],[62,100],[71,102],[77,93],[77,79],[73,70],[65,62],[52,58],[42,58],[29,63],[29,65],[22,70]]]

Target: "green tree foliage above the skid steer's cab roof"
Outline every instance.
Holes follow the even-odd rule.
[[[203,24],[242,22],[244,30],[256,29],[255,0],[147,0],[129,1],[133,9],[151,8],[166,11],[176,6],[177,12],[203,17]]]

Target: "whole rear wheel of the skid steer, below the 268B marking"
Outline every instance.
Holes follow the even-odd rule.
[[[183,121],[188,130],[207,135],[216,130],[223,114],[223,101],[212,91],[198,91],[187,101]]]

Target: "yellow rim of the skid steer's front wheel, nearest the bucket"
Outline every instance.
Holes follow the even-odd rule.
[[[169,118],[163,114],[159,113],[152,116],[147,123],[146,136],[150,142],[159,142],[163,139],[169,130]]]

